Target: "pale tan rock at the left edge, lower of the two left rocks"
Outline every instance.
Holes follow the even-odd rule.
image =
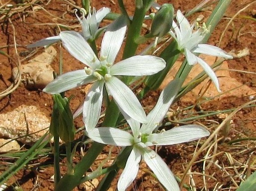
[[[18,139],[32,144],[49,129],[50,120],[36,106],[21,105],[11,112],[0,114],[0,138]],[[24,137],[22,137],[24,136]]]

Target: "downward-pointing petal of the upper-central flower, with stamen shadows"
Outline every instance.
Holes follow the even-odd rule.
[[[86,131],[96,127],[99,121],[103,98],[103,86],[103,80],[94,82],[86,95],[83,106],[83,122]]]

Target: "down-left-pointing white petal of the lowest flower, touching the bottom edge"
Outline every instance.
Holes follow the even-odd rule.
[[[122,174],[117,183],[118,191],[125,191],[127,187],[134,181],[139,171],[139,162],[141,161],[141,154],[135,147],[130,153]]]

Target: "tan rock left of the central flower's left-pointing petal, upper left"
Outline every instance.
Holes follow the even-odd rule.
[[[45,49],[45,52],[21,65],[21,79],[28,89],[43,89],[53,80],[53,68],[50,66],[56,50],[53,47]],[[12,69],[12,80],[18,77],[18,68]]]

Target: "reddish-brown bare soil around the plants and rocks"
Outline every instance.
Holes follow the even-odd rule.
[[[5,7],[4,4],[16,4],[22,2],[16,1],[0,1],[0,10]],[[24,3],[27,1],[24,1]],[[75,7],[81,7],[80,0],[30,0],[32,2],[30,5],[24,7],[20,6],[16,12],[9,14],[8,17],[5,14],[0,15],[0,51],[4,51],[13,60],[17,60],[17,55],[14,49],[14,31],[16,44],[18,45],[18,55],[21,60],[21,64],[25,64],[31,57],[30,51],[27,50],[26,45],[31,44],[37,40],[57,35],[59,28],[57,24],[62,24],[66,26],[73,26],[75,30],[80,30],[78,26],[77,19],[74,16],[73,9]],[[181,9],[182,11],[192,9],[201,0],[158,0],[158,3],[163,4],[164,2],[172,3],[175,10]],[[233,0],[226,11],[224,18],[220,21],[212,36],[209,39],[209,44],[218,45],[220,36],[224,31],[229,20],[241,9],[251,3],[251,0]],[[124,0],[124,4],[127,7],[129,14],[133,11],[133,1]],[[204,19],[210,15],[212,6],[204,9],[200,14],[203,14]],[[96,1],[92,0],[92,6],[96,7],[96,10],[105,6],[110,7],[112,12],[118,12],[117,0],[102,0]],[[43,7],[44,9],[39,9],[33,12],[33,8]],[[229,52],[231,50],[239,51],[244,48],[248,48],[250,54],[242,57],[236,58],[234,60],[228,61],[228,66],[230,69],[243,70],[256,72],[256,22],[255,22],[255,3],[244,9],[237,17],[232,21],[231,25],[228,27],[227,31],[223,35],[223,39],[220,43],[220,47]],[[251,18],[251,19],[250,19]],[[189,17],[190,20],[195,19],[195,16]],[[12,26],[12,23],[13,26]],[[106,21],[104,23],[107,23]],[[61,29],[65,30],[65,29]],[[58,71],[59,54],[62,51],[63,62],[64,62],[64,72],[81,69],[83,66],[76,61],[64,48],[59,48],[59,45],[55,44],[54,47],[58,52],[57,58],[53,61],[52,67]],[[37,54],[42,52],[42,48],[38,48]],[[8,57],[0,54],[0,91],[5,90],[8,86],[12,84],[11,80],[11,70],[15,67],[15,63]],[[244,73],[237,71],[230,71],[231,76],[238,80],[238,82],[247,85],[252,90],[256,91],[256,78],[255,73]],[[70,90],[67,96],[75,95],[75,98],[71,102],[71,109],[77,108],[84,98],[84,92],[81,88]],[[256,95],[255,95],[256,96]],[[151,92],[148,97],[142,102],[145,107],[151,108],[152,104],[158,98],[158,92]],[[230,97],[226,98],[222,102],[210,102],[205,104],[204,111],[217,111],[221,109],[231,109],[241,104],[244,104],[249,100],[248,96],[241,97]],[[1,98],[0,100],[0,113],[6,113],[12,111],[18,106],[25,105],[36,105],[42,112],[44,112],[50,118],[52,111],[52,98],[41,90],[27,90],[22,84],[10,93],[8,96]],[[178,102],[176,104],[179,106],[177,111],[182,113],[182,108],[186,106],[193,105],[194,103],[182,103]],[[193,110],[189,111],[190,113]],[[195,115],[195,114],[194,114]],[[179,119],[185,118],[186,116],[179,115]],[[239,141],[234,144],[228,144],[230,140],[236,140],[239,138],[248,138],[256,136],[256,109],[255,107],[241,109],[233,118],[233,124],[231,125],[231,130],[227,135],[227,141],[219,142],[218,144],[213,144],[213,149],[210,153],[206,153],[205,150],[195,163],[189,175],[186,178],[185,183],[190,184],[189,178],[194,180],[194,185],[196,190],[236,190],[237,185],[240,184],[241,178],[246,178],[242,175],[249,174],[255,171],[255,165],[252,168],[248,168],[250,162],[252,162],[253,157],[255,158],[255,141],[246,140]],[[214,116],[211,118],[204,118],[200,122],[207,127],[210,131],[213,131],[217,127],[217,121],[222,122],[222,119]],[[192,122],[192,121],[191,121]],[[81,119],[75,121],[76,127],[83,126]],[[79,134],[82,136],[82,134]],[[200,142],[200,144],[203,143]],[[200,145],[199,144],[199,145]],[[175,146],[166,146],[158,148],[158,154],[163,157],[167,165],[169,165],[172,172],[181,178],[183,172],[186,168],[186,164],[190,161],[193,156],[194,150],[197,147],[197,142],[179,144]],[[28,148],[28,147],[27,147]],[[102,153],[102,157],[108,155],[108,148]],[[112,150],[112,155],[116,155],[120,149]],[[214,152],[213,152],[214,150]],[[80,155],[79,152],[77,152]],[[209,159],[212,162],[206,164],[204,168],[204,163],[200,162],[205,155],[215,155]],[[232,160],[231,160],[232,159]],[[78,157],[77,157],[78,160]],[[53,158],[51,155],[44,156],[43,158],[38,158],[37,160],[30,163],[26,169],[18,172],[13,176],[7,184],[17,184],[22,187],[23,190],[53,190],[53,181],[50,179],[54,174],[53,172]],[[0,171],[3,172],[6,168],[6,161],[0,156]],[[34,167],[37,167],[36,173]],[[65,170],[65,160],[61,161],[61,168]],[[205,174],[203,176],[203,171],[205,169]],[[203,181],[205,177],[205,183]],[[112,183],[111,189],[116,189],[116,181]],[[12,190],[12,187],[9,187]],[[75,188],[75,190],[85,190],[84,185],[80,185]],[[151,176],[151,173],[146,169],[146,165],[142,163],[140,166],[140,171],[137,179],[129,187],[128,190],[146,190],[146,191],[158,191],[164,190],[163,187],[158,183],[156,179]]]

